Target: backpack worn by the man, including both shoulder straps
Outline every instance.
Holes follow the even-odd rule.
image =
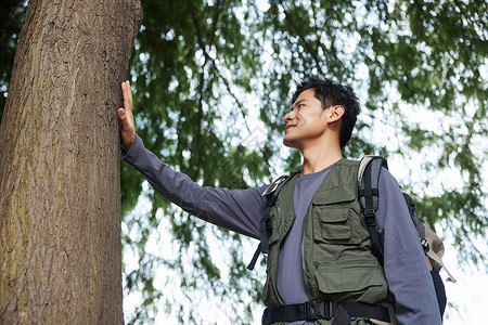
[[[380,236],[376,230],[375,217],[378,208],[378,181],[382,168],[388,169],[387,161],[383,157],[368,155],[361,159],[358,172],[358,183],[360,183],[358,188],[358,198],[361,206],[361,218],[363,218],[364,222],[367,223],[373,242],[373,253],[383,265],[383,246],[381,245]],[[267,199],[267,207],[260,221],[260,243],[253,256],[251,263],[247,265],[248,270],[254,269],[261,251],[264,253],[269,252],[268,238],[271,235],[272,231],[270,224],[271,207],[275,204],[280,190],[295,174],[296,173],[290,177],[282,176],[278,178],[262,194],[262,196],[265,196]],[[412,198],[406,193],[402,194],[425,252],[426,262],[428,269],[431,270],[431,275],[433,277],[434,287],[436,290],[440,315],[442,316],[447,303],[445,285],[439,275],[439,271],[442,266],[449,275],[448,281],[455,283],[454,277],[449,273],[441,260],[441,257],[444,255],[444,243],[431,229],[420,222],[415,204],[413,203]]]

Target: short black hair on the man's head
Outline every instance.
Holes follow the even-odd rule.
[[[341,84],[330,79],[308,79],[298,84],[293,94],[293,103],[299,94],[307,90],[314,89],[316,98],[322,102],[322,107],[326,108],[334,105],[342,105],[344,107],[344,115],[341,125],[339,144],[344,148],[349,142],[352,130],[358,119],[359,100],[356,96],[352,88],[347,84]]]

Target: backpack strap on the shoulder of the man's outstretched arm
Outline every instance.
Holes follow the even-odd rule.
[[[256,261],[259,257],[259,253],[262,251],[264,253],[269,252],[269,244],[268,244],[268,237],[271,235],[272,226],[270,222],[270,212],[271,207],[277,203],[278,195],[280,194],[281,188],[283,188],[284,184],[286,184],[287,181],[290,181],[295,174],[297,174],[299,171],[291,174],[291,176],[281,176],[274,182],[271,183],[271,185],[266,188],[265,193],[262,193],[262,196],[266,197],[266,210],[265,213],[262,213],[261,221],[259,222],[259,239],[260,243],[254,252],[253,259],[251,260],[249,264],[247,265],[247,270],[253,271],[254,266],[256,265]]]

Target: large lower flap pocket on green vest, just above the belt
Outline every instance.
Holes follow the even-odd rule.
[[[373,259],[319,263],[316,278],[324,300],[377,303],[386,299],[385,275]]]

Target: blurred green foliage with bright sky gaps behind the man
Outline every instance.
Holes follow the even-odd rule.
[[[142,1],[129,79],[146,147],[202,185],[260,185],[299,168],[299,153],[283,158],[277,145],[295,84],[349,83],[363,108],[344,154],[404,160],[410,177],[400,182],[421,218],[454,236],[462,258],[486,264],[471,243],[487,226],[486,1],[264,2]],[[0,29],[2,47],[14,48],[21,21],[22,11]],[[4,91],[12,55],[0,53]],[[247,133],[265,140],[253,150]],[[126,294],[142,296],[128,323],[150,322],[160,306],[182,324],[206,323],[192,303],[200,295],[230,323],[251,323],[262,274],[244,268],[248,240],[181,212],[121,169],[125,258],[138,263],[125,265]],[[133,210],[138,202],[147,211]]]

